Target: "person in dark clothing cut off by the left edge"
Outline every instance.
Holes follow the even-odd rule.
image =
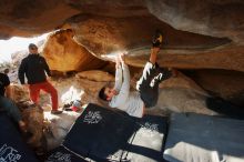
[[[0,73],[0,111],[7,112],[7,114],[18,123],[21,131],[27,131],[27,125],[22,120],[19,108],[10,100],[11,88],[9,77],[4,73]]]

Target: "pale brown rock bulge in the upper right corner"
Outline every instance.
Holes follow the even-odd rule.
[[[146,0],[151,13],[172,27],[243,43],[244,2],[235,0]]]

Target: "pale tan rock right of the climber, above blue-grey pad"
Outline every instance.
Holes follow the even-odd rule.
[[[163,81],[160,87],[157,109],[170,112],[217,114],[205,103],[210,94],[182,73]]]

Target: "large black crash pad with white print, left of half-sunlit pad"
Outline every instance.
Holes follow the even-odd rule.
[[[133,134],[134,120],[124,113],[89,104],[64,139],[63,145],[95,161],[120,159]]]

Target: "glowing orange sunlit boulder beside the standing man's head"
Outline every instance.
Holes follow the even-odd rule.
[[[84,71],[101,69],[108,64],[90,54],[72,38],[72,30],[57,31],[48,38],[42,53],[51,70]]]

